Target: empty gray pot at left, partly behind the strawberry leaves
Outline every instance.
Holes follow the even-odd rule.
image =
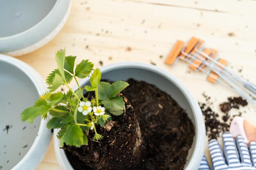
[[[52,137],[47,121],[38,117],[33,124],[22,123],[20,113],[46,90],[44,80],[31,66],[0,54],[1,170],[34,170],[43,159]]]

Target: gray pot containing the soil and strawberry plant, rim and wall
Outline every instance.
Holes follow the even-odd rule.
[[[189,150],[188,161],[184,170],[197,170],[204,153],[205,126],[201,109],[186,87],[170,73],[149,64],[135,62],[117,63],[102,67],[101,73],[102,79],[117,81],[134,78],[154,84],[162,91],[170,94],[186,110],[195,126],[195,137],[193,145]],[[89,83],[89,78],[79,82],[80,86],[85,86]],[[77,88],[77,86],[74,87],[74,90]],[[64,150],[59,148],[59,140],[56,138],[57,132],[58,130],[54,131],[54,149],[61,170],[74,170]]]

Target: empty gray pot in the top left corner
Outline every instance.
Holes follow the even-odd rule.
[[[1,0],[0,53],[12,56],[32,52],[61,30],[71,0]]]

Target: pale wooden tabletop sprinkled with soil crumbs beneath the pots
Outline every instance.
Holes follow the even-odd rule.
[[[155,63],[191,91],[198,101],[211,96],[214,109],[236,95],[186,63],[167,66],[164,59],[177,39],[201,38],[230,62],[230,68],[256,83],[256,1],[254,0],[73,0],[61,32],[42,48],[17,57],[43,78],[56,68],[54,53],[66,47],[77,61],[89,59],[100,67],[117,62]],[[237,96],[237,95],[236,95]],[[243,117],[256,124],[256,108],[249,104]],[[237,114],[237,110],[232,113]],[[206,148],[206,153],[208,153]],[[208,154],[207,154],[208,155]],[[51,143],[36,170],[60,170]]]

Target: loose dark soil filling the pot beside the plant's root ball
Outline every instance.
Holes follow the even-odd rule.
[[[143,142],[141,161],[130,169],[183,170],[195,135],[193,123],[185,110],[180,108],[170,95],[153,85],[134,79],[128,79],[128,83],[130,85],[122,94],[130,100],[135,110]],[[118,128],[110,131],[112,130]],[[104,131],[102,132],[104,135]],[[105,140],[108,140],[108,137],[105,136],[100,142],[104,143]],[[75,170],[92,170],[69,151],[66,153]]]

